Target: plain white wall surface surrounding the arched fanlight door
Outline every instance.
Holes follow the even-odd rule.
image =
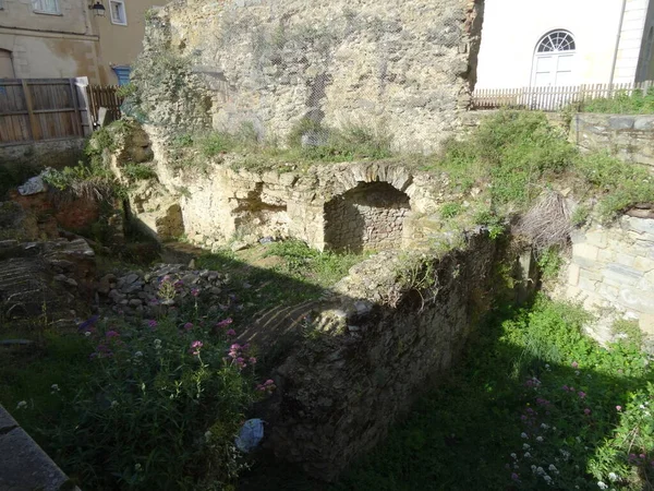
[[[646,0],[628,2],[644,24],[640,3]],[[536,45],[554,29],[574,36],[576,84],[608,83],[621,8],[622,0],[486,0],[476,87],[529,86]],[[637,12],[631,15],[629,27],[638,22]]]

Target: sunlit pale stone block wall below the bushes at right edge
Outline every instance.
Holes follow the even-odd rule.
[[[604,309],[593,334],[610,340],[618,318],[654,335],[654,219],[623,216],[613,227],[592,225],[572,235],[567,296],[591,311]]]

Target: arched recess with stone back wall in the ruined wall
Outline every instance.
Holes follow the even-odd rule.
[[[350,252],[400,248],[410,213],[405,192],[384,181],[360,181],[325,204],[325,248]]]

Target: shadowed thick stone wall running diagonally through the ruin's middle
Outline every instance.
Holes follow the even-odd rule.
[[[492,273],[501,258],[480,233],[440,260],[387,251],[354,266],[337,298],[294,327],[303,336],[280,357],[279,388],[263,410],[266,445],[320,479],[372,448],[457,361],[501,283]],[[289,335],[278,330],[266,335]]]

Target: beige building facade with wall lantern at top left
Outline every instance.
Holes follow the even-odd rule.
[[[124,83],[155,1],[0,0],[0,79]]]

